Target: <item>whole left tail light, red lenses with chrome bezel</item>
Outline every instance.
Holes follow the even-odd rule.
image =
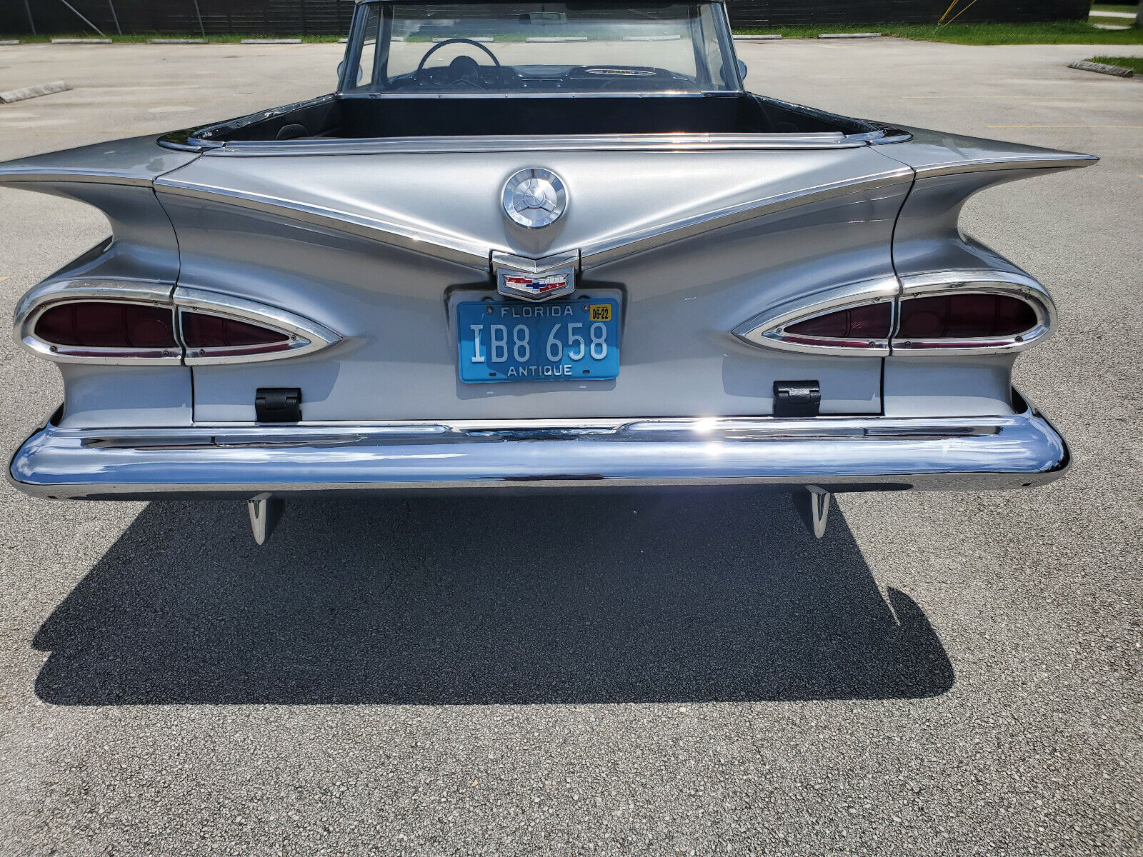
[[[190,366],[273,360],[341,337],[294,313],[202,289],[120,281],[50,283],[16,312],[17,337],[62,362]]]

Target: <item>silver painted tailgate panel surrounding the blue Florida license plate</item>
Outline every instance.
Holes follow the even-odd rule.
[[[528,163],[547,165],[568,187],[567,214],[545,230],[517,226],[499,210],[505,179]],[[306,189],[291,190],[303,174]],[[426,190],[430,175],[440,190]],[[911,182],[909,169],[871,147],[552,151],[539,163],[534,153],[208,154],[157,190],[181,235],[181,286],[224,281],[232,294],[289,306],[344,337],[313,359],[195,367],[195,419],[250,421],[255,387],[301,386],[307,418],[370,421],[765,415],[774,382],[796,377],[821,379],[825,413],[878,413],[880,360],[774,355],[729,331],[791,295],[893,277],[892,230]],[[295,218],[293,207],[232,202],[287,194],[322,211],[325,225]],[[213,229],[197,227],[205,222]],[[331,225],[347,222],[378,226],[367,238]],[[394,223],[423,227],[417,249],[389,240],[384,224]],[[638,251],[648,235],[656,246]],[[581,294],[623,291],[620,377],[462,385],[445,295],[490,293],[490,251],[577,248]]]

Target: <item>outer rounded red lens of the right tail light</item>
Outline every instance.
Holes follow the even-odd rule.
[[[1028,303],[1009,295],[934,295],[901,302],[903,339],[997,339],[1039,323]]]

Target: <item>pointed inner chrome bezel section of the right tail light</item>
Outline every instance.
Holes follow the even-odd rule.
[[[894,277],[838,286],[812,295],[800,295],[753,317],[732,333],[751,345],[764,345],[780,351],[830,357],[888,357],[889,337],[868,341],[842,341],[837,344],[809,344],[785,337],[784,328],[796,321],[807,321],[838,310],[866,304],[896,303],[900,285]],[[889,333],[896,327],[896,307],[890,317]]]

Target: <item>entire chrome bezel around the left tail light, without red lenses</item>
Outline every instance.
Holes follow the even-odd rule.
[[[169,310],[175,345],[163,349],[78,346],[38,336],[35,326],[40,317],[69,303],[141,304]],[[190,349],[183,336],[183,312],[256,325],[280,333],[285,342]],[[174,283],[95,279],[57,281],[32,289],[16,307],[13,334],[16,342],[46,360],[105,366],[205,366],[280,360],[326,349],[342,338],[296,313],[218,291],[175,287]]]

